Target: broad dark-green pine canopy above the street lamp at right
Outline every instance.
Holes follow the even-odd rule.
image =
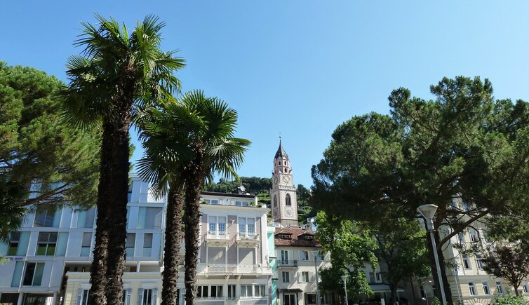
[[[338,126],[312,168],[312,205],[373,223],[438,205],[434,226],[448,226],[436,236],[442,260],[441,247],[486,215],[528,215],[529,105],[494,100],[490,81],[478,77],[444,78],[430,92],[434,99],[425,100],[399,88],[389,115]],[[457,208],[455,198],[469,208]]]

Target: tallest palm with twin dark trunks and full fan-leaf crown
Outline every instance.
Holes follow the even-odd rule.
[[[129,129],[135,107],[170,98],[180,89],[173,75],[185,66],[160,50],[159,18],[148,15],[128,34],[125,25],[95,15],[82,22],[75,42],[84,48],[67,62],[69,85],[59,91],[65,118],[81,128],[102,128],[98,219],[91,268],[91,303],[123,304]],[[112,222],[109,222],[112,215]]]

